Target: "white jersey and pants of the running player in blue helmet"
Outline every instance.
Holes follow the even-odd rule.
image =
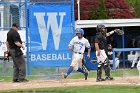
[[[72,63],[70,66],[74,67],[74,70],[78,70],[78,66],[82,65],[85,48],[90,48],[89,41],[84,37],[79,39],[78,36],[75,36],[68,46],[73,47]]]

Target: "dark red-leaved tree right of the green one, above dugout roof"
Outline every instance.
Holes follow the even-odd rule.
[[[134,8],[125,0],[105,0],[105,6],[112,18],[136,18]]]

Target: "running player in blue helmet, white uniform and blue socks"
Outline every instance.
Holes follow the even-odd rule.
[[[90,58],[91,47],[90,47],[89,41],[83,37],[84,35],[83,29],[77,28],[75,30],[75,34],[76,36],[70,41],[68,45],[69,50],[72,50],[73,54],[72,54],[71,65],[69,69],[67,70],[67,73],[64,74],[64,78],[67,78],[67,76],[70,75],[70,73],[73,70],[75,70],[75,71],[83,73],[85,76],[85,80],[87,80],[88,72],[85,72],[82,69],[82,59],[83,59],[85,48],[88,49],[87,57]]]

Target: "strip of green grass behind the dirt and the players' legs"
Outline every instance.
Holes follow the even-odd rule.
[[[46,78],[49,77],[47,76],[48,74],[60,74],[56,72],[56,69],[50,68],[50,69],[32,69],[32,74],[27,76],[27,79],[29,80],[35,80],[35,79],[41,79],[41,78]],[[13,73],[13,72],[11,72]],[[36,75],[35,75],[36,73]],[[89,72],[89,78],[96,78],[96,71],[90,71]],[[111,71],[111,76],[113,77],[123,77],[123,76],[138,76],[138,70],[137,69],[118,69],[118,70],[112,70]],[[103,77],[104,77],[104,71],[103,71]],[[83,74],[81,73],[72,73],[68,76],[70,79],[79,79],[79,78],[84,78]],[[0,75],[0,80],[11,82],[12,80],[12,74],[10,76],[7,75]]]

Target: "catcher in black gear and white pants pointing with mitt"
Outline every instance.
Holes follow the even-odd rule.
[[[95,48],[96,48],[96,57],[98,62],[97,68],[97,78],[96,81],[104,80],[113,80],[113,77],[110,76],[110,63],[107,57],[107,39],[106,37],[117,33],[118,35],[123,35],[123,31],[120,29],[115,29],[107,33],[107,29],[104,25],[100,24],[96,27],[97,34],[95,36]],[[105,70],[106,78],[102,78],[102,69]]]

